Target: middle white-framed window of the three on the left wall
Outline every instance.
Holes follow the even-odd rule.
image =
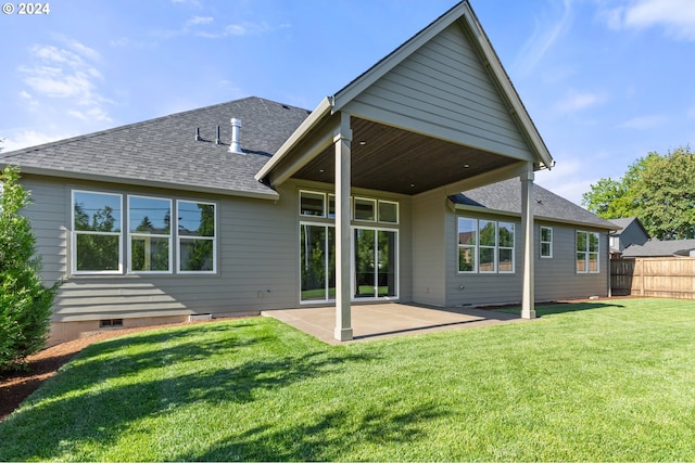
[[[172,273],[172,200],[128,196],[128,272]]]

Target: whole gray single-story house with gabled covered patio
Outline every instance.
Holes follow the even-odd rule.
[[[230,119],[231,124],[230,124]],[[464,1],[313,111],[248,98],[30,149],[52,342],[195,314],[608,294],[616,227],[554,162]]]

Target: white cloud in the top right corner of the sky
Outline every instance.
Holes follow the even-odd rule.
[[[612,29],[662,27],[679,40],[695,41],[695,8],[692,0],[634,0],[627,7],[599,12]]]

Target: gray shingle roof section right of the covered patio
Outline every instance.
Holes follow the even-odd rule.
[[[615,230],[616,226],[589,210],[545,190],[533,185],[533,216],[566,223],[591,226]],[[492,213],[521,215],[521,182],[518,178],[505,180],[490,185],[469,190],[450,196],[450,201],[458,209],[488,209]]]

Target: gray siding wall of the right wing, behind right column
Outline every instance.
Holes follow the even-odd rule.
[[[515,224],[515,273],[459,273],[457,217],[501,220]],[[514,216],[458,211],[446,215],[446,306],[519,304],[523,271],[521,220]],[[541,226],[553,228],[553,258],[541,258]],[[577,273],[576,231],[599,232],[599,272]],[[535,300],[585,298],[608,295],[608,233],[582,226],[536,220],[533,229]]]

